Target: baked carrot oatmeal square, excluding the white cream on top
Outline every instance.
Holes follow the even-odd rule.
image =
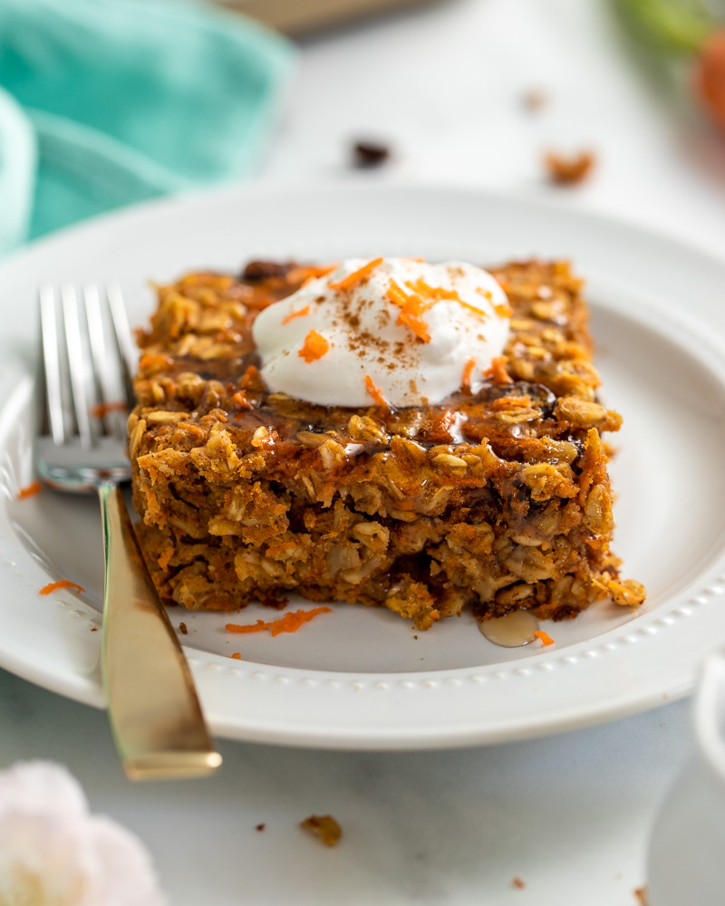
[[[159,287],[129,451],[161,598],[234,611],[294,591],[419,629],[467,606],[561,620],[605,597],[642,602],[609,550],[602,434],[621,419],[597,399],[568,265],[490,268],[513,310],[506,356],[475,394],[398,410],[266,390],[256,314],[327,270],[255,262]]]

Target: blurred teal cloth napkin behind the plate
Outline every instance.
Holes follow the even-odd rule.
[[[264,149],[291,45],[185,0],[0,0],[0,252]]]

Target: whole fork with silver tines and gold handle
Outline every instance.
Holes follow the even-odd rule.
[[[131,478],[124,410],[135,360],[121,290],[43,286],[39,295],[35,466],[51,487],[101,501],[102,677],[116,748],[134,780],[210,774],[221,757],[119,487]]]

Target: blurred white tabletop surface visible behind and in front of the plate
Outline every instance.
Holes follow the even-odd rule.
[[[549,96],[537,112],[521,102],[532,88]],[[306,39],[261,175],[339,176],[351,140],[368,137],[395,149],[372,180],[556,195],[723,254],[725,138],[647,74],[604,0],[449,0]],[[546,186],[541,152],[584,147],[598,155],[591,181]],[[689,746],[675,702],[441,753],[222,742],[219,776],[134,786],[102,712],[2,671],[0,728],[0,766],[69,766],[92,809],[146,843],[179,906],[634,906],[652,820]],[[297,826],[326,813],[343,826],[330,850]]]

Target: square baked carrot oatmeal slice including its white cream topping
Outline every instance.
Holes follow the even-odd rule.
[[[160,286],[129,420],[161,598],[285,593],[428,629],[643,601],[614,520],[582,283],[565,262],[253,262]]]

